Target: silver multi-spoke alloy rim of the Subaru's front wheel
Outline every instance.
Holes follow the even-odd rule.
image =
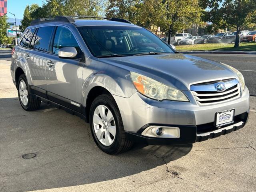
[[[98,140],[104,146],[110,146],[116,136],[116,124],[108,107],[99,105],[93,114],[93,128]]]

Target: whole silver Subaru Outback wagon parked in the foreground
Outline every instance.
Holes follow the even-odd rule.
[[[24,110],[52,104],[90,123],[98,147],[191,144],[242,128],[249,91],[235,68],[177,53],[124,19],[37,19],[12,50]]]

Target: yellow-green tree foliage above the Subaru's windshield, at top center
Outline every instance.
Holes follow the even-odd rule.
[[[160,26],[170,36],[199,24],[202,9],[198,0],[109,0],[106,12],[108,17],[125,18],[146,28]]]

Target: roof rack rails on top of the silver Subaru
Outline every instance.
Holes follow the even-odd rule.
[[[54,21],[62,21],[62,22],[68,22],[68,23],[73,23],[76,22],[73,18],[95,18],[95,19],[106,19],[110,21],[118,21],[118,22],[124,22],[124,23],[130,23],[130,21],[121,19],[121,18],[108,18],[108,17],[96,17],[96,16],[56,16],[54,18],[38,18],[35,19],[31,22],[30,25],[36,25],[40,23],[45,23],[45,22],[54,22]]]

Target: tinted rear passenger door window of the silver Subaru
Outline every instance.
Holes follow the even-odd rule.
[[[35,34],[34,49],[44,52],[49,52],[49,42],[54,26],[40,27]],[[32,44],[33,47],[33,44]]]

